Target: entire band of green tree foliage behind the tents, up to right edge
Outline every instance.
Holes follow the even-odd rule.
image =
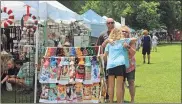
[[[58,0],[73,11],[83,14],[92,9],[101,16],[112,17],[120,22],[125,17],[126,25],[134,29],[158,29],[168,31],[181,28],[181,1],[171,0]]]

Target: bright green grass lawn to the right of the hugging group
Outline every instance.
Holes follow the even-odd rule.
[[[143,64],[143,56],[136,53],[136,103],[181,102],[181,44],[166,44],[151,52],[151,64]],[[116,100],[116,97],[115,97]],[[130,101],[126,89],[125,101]]]

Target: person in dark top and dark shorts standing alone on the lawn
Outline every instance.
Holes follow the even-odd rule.
[[[142,37],[142,54],[143,54],[143,63],[145,63],[146,59],[146,53],[147,53],[147,58],[148,58],[148,64],[150,64],[150,50],[151,50],[151,37],[148,35],[148,31],[144,30],[143,31],[144,36]]]

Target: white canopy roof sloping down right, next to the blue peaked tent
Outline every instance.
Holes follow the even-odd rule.
[[[81,16],[65,7],[58,1],[22,1],[25,4],[39,10],[40,20],[81,20]]]

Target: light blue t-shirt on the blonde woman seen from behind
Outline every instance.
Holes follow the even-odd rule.
[[[121,39],[114,42],[114,45],[108,43],[105,47],[105,52],[108,52],[107,70],[120,65],[129,67],[128,51],[123,47],[123,43],[130,43],[130,39]]]

